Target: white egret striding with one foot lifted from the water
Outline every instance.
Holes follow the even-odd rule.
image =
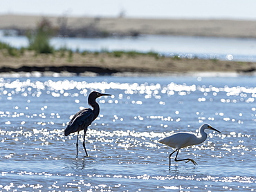
[[[194,165],[196,165],[196,162],[190,158],[183,159],[183,160],[177,160],[177,156],[178,156],[179,150],[181,148],[191,146],[191,145],[201,144],[202,142],[204,142],[207,138],[207,133],[205,133],[205,129],[210,129],[210,130],[219,132],[217,129],[213,128],[209,124],[203,124],[199,128],[199,133],[200,133],[199,136],[196,136],[196,134],[192,133],[192,132],[179,132],[179,133],[174,133],[174,134],[170,135],[169,137],[165,137],[165,138],[158,140],[158,142],[160,142],[161,144],[166,144],[167,146],[176,148],[175,151],[173,151],[169,155],[169,166],[171,166],[171,156],[176,151],[177,151],[177,153],[176,153],[176,156],[174,159],[176,162],[187,161],[187,162],[192,162]],[[219,132],[219,133],[221,133],[221,132]]]

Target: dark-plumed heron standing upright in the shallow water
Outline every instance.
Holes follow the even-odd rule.
[[[68,136],[71,133],[77,132],[77,142],[76,142],[76,157],[78,155],[78,137],[79,137],[79,131],[84,130],[84,140],[85,140],[85,134],[87,131],[87,128],[91,123],[98,117],[100,113],[100,106],[96,102],[96,99],[100,96],[111,96],[110,94],[104,94],[104,93],[98,93],[97,91],[93,91],[90,93],[88,97],[88,104],[93,107],[91,108],[84,108],[81,111],[75,113],[71,121],[68,123],[68,126],[66,127],[64,133],[65,136]],[[82,146],[84,146],[84,151],[86,153],[86,156],[88,156],[88,153],[85,148],[84,141],[82,143]]]

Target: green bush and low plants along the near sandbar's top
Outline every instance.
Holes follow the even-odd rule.
[[[25,50],[31,50],[35,52],[35,55],[38,54],[53,54],[58,55],[59,57],[67,57],[67,61],[71,62],[73,61],[73,53],[80,54],[84,57],[90,51],[82,51],[80,52],[79,48],[77,48],[75,51],[72,51],[71,49],[66,48],[66,46],[63,46],[62,48],[55,49],[50,44],[50,39],[52,35],[54,34],[54,29],[51,26],[51,22],[47,19],[42,19],[42,21],[39,22],[37,29],[35,31],[28,31],[26,37],[28,38],[28,47],[27,48],[14,48],[6,43],[0,42],[0,50],[3,52],[3,55],[10,55],[12,57],[19,57],[20,55],[23,55]],[[107,49],[102,49],[101,51],[95,51],[91,52],[96,57],[100,55],[100,53],[107,53],[113,57],[123,57],[124,55],[127,57],[137,57],[138,55],[149,55],[152,57],[155,57],[156,59],[159,59],[162,57],[157,52],[149,51],[149,52],[137,52],[135,50],[129,50],[129,51],[123,51],[123,50],[114,50],[109,51]]]

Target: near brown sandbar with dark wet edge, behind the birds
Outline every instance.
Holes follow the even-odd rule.
[[[113,75],[120,73],[253,73],[256,64],[239,61],[219,61],[217,59],[179,59],[171,57],[154,57],[152,55],[121,55],[115,57],[111,53],[73,53],[73,57],[55,55],[37,55],[25,52],[19,57],[6,56],[0,53],[0,72],[45,72],[56,73],[95,73]]]

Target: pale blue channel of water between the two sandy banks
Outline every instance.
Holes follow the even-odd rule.
[[[26,37],[5,37],[0,41],[20,48],[28,46]],[[158,52],[165,56],[199,57],[201,59],[221,59],[235,61],[256,61],[256,39],[221,37],[177,37],[170,35],[141,35],[140,37],[109,38],[60,38],[53,37],[55,48],[71,50],[113,51],[135,50],[138,52]]]

